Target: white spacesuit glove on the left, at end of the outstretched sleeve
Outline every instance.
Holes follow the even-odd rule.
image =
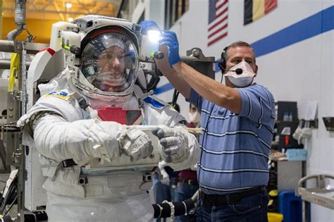
[[[142,130],[135,128],[123,128],[118,138],[118,144],[120,151],[130,156],[131,161],[144,159],[153,152],[149,137]]]

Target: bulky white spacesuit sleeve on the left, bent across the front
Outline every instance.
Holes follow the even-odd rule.
[[[78,165],[92,157],[111,160],[120,156],[118,137],[122,125],[97,119],[68,122],[58,115],[39,118],[33,132],[40,154],[63,161],[73,159]]]

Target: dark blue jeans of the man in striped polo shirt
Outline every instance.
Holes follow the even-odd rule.
[[[263,187],[262,192],[242,198],[239,202],[228,202],[221,206],[214,206],[209,201],[197,199],[195,211],[197,222],[267,222],[268,193]]]

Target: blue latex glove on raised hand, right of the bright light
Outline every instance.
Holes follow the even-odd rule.
[[[175,32],[165,30],[161,34],[160,45],[168,47],[168,61],[169,65],[173,66],[181,61],[178,54],[178,38]]]

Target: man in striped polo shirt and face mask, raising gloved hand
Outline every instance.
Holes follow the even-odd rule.
[[[180,62],[174,32],[164,31],[160,44],[168,56],[156,61],[159,70],[201,111],[197,221],[268,221],[265,186],[276,117],[271,92],[253,83],[254,51],[241,41],[225,48],[223,85]]]

